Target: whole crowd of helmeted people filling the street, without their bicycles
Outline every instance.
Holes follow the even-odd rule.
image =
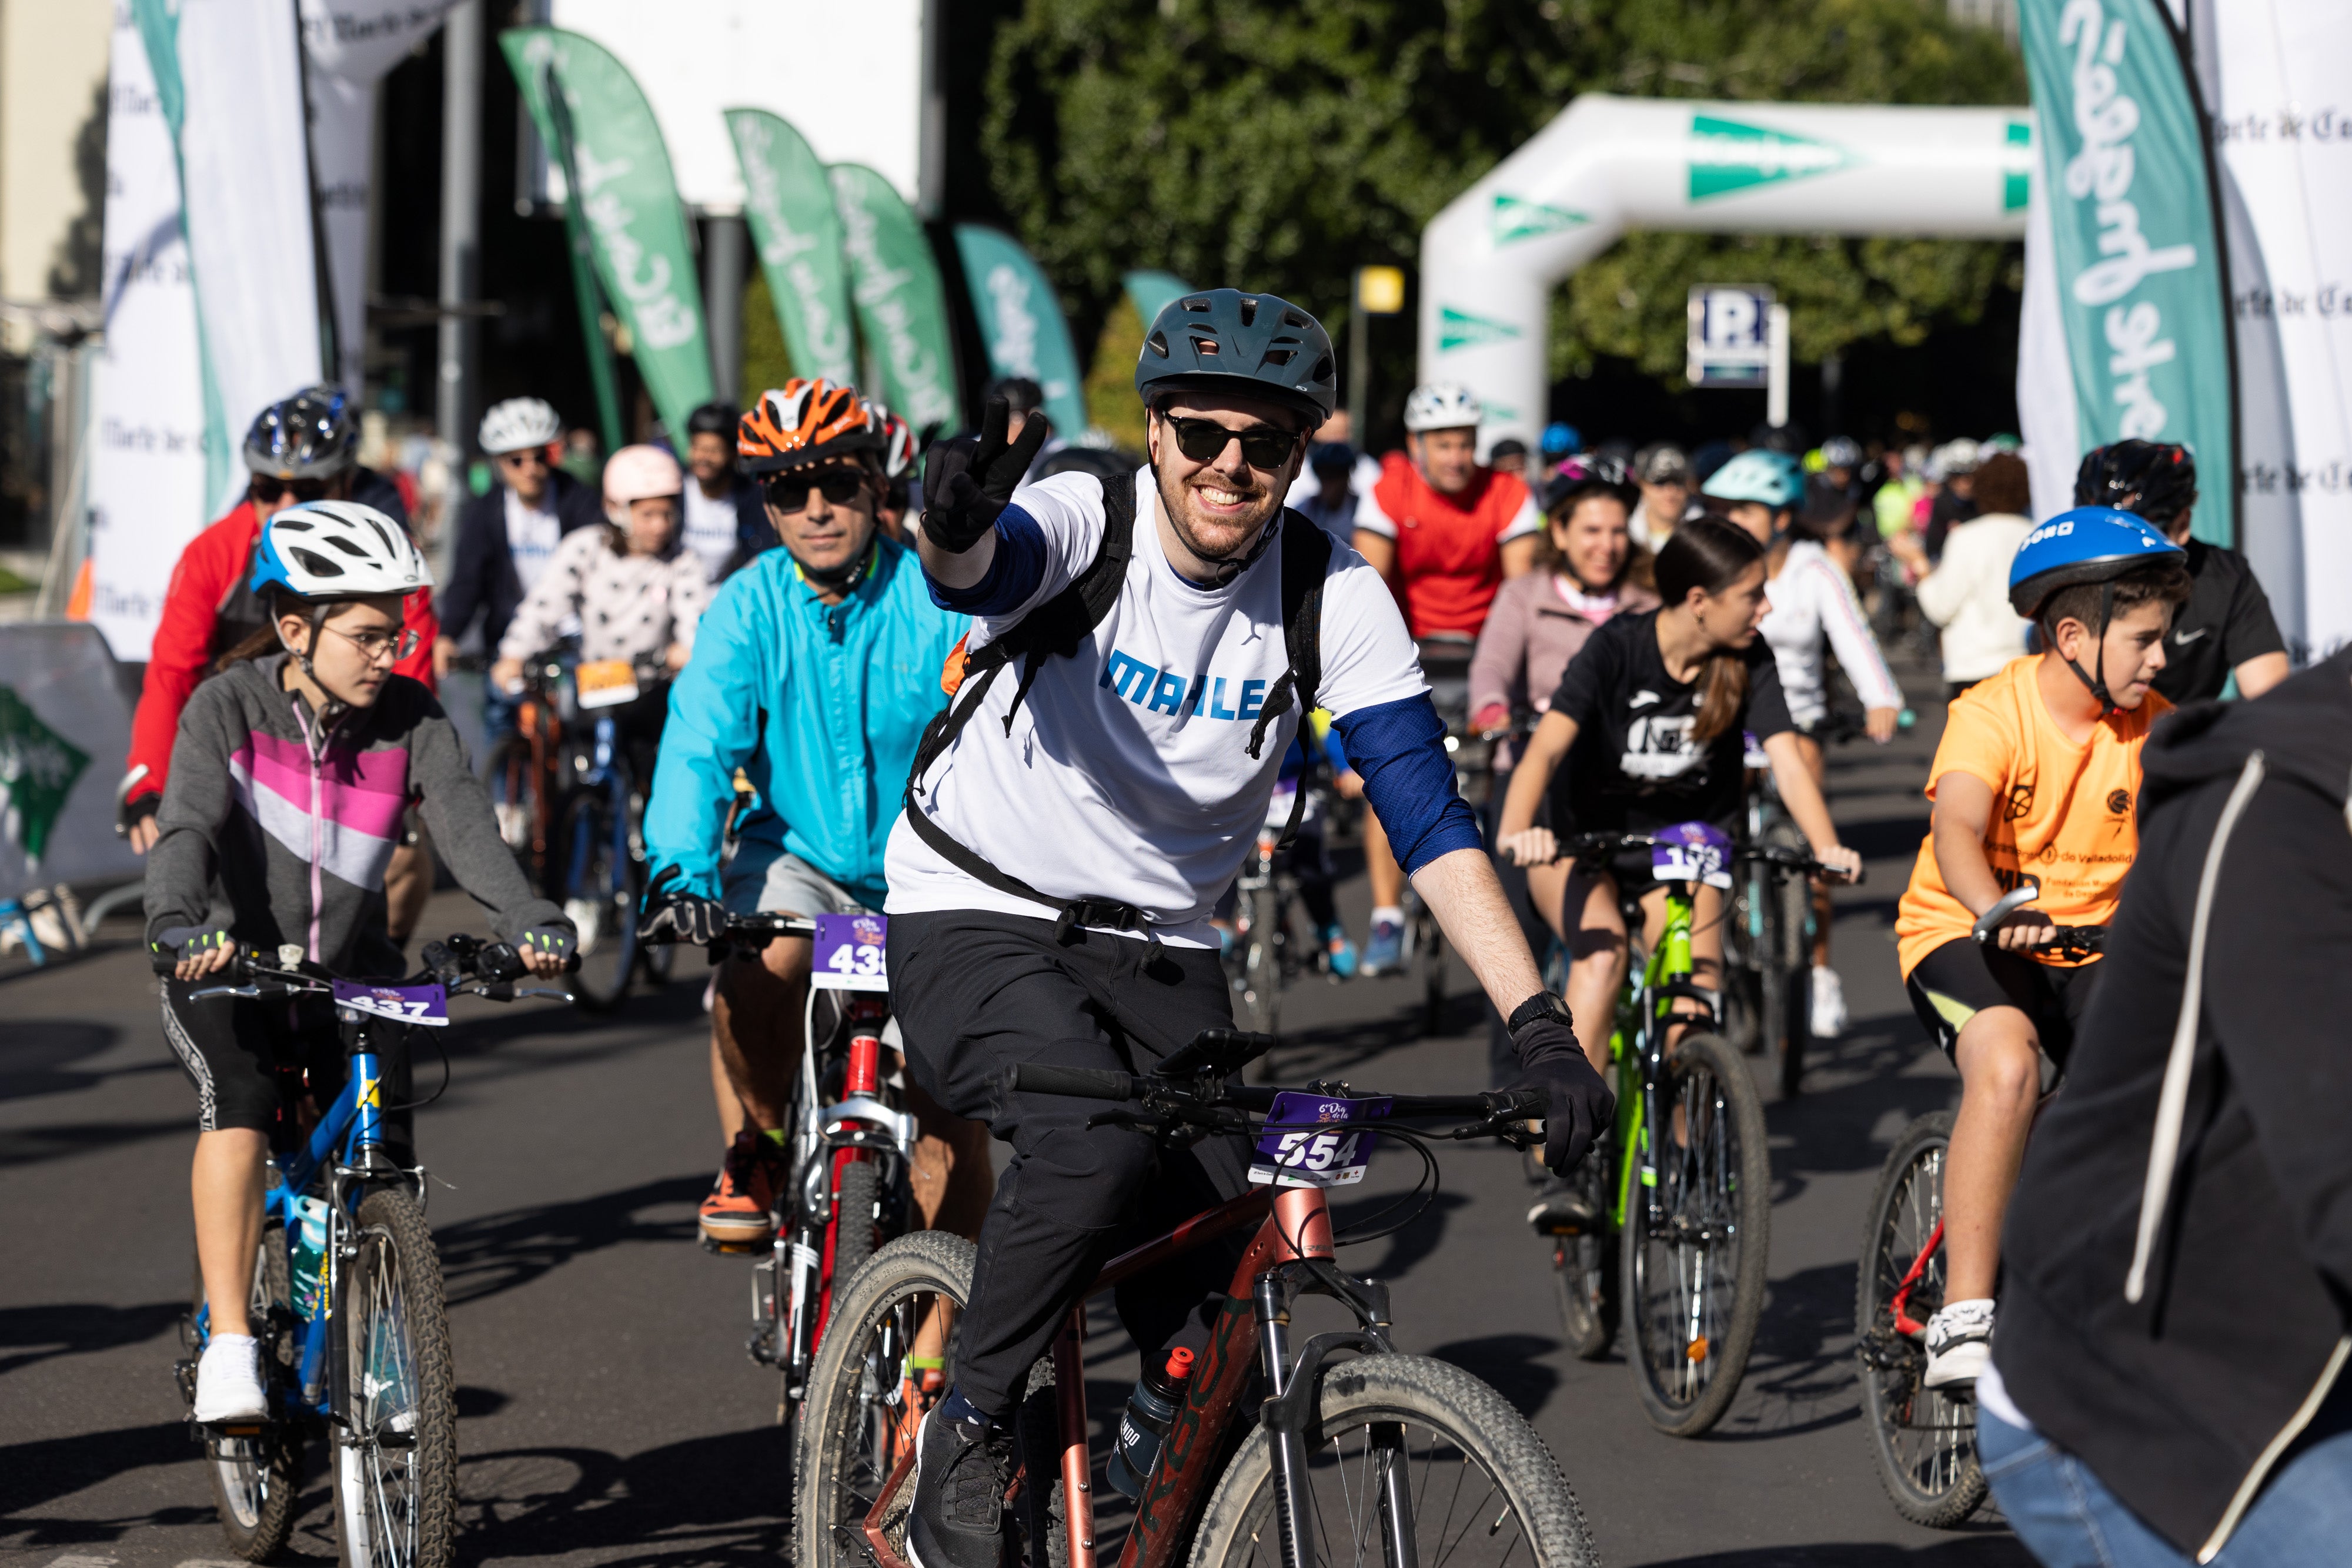
[[[1828,799],[1832,663],[1860,731],[1891,741],[1907,703],[1882,632],[1917,616],[1940,635],[1950,710],[1926,785],[1931,827],[1896,919],[1898,966],[1962,1079],[1945,1173],[1950,1288],[1926,1335],[1926,1385],[1973,1387],[2006,1443],[1997,1465],[1985,1439],[1987,1474],[2046,1561],[2079,1561],[2046,1542],[2065,1530],[2049,1497],[2089,1495],[2082,1476],[2178,1554],[2216,1528],[2227,1537],[2281,1453],[2288,1453],[2298,1434],[2317,1450],[2312,1410],[2340,1345],[2317,1387],[2256,1378],[2263,1396],[2201,1418],[2199,1441],[2178,1439],[2159,1472],[2204,1474],[2176,1495],[2124,1474],[2138,1465],[2131,1443],[2152,1439],[2114,1436],[2084,1410],[2164,1425],[2157,1410],[2197,1399],[2209,1371],[2150,1371],[2180,1378],[2180,1396],[2161,1399],[2117,1356],[2086,1356],[2107,1380],[2091,1387],[2056,1347],[2098,1312],[2110,1340],[2147,1342],[2152,1361],[2178,1354],[2143,1288],[2187,1302],[2204,1288],[2190,1267],[2199,1244],[2251,1246],[2194,1229],[2230,1211],[2199,1208],[2218,1178],[2194,1171],[2183,1140],[2218,1147],[2218,1126],[2281,1135],[2265,1117],[2296,1100],[2281,1067],[2239,1084],[2234,1056],[2230,1072],[2197,1077],[2187,1063],[2227,1051],[2230,1030],[2223,1046],[2211,1020],[2199,1032],[2194,964],[2180,1001],[2178,954],[2122,945],[2145,929],[2204,961],[2218,858],[2201,856],[2227,839],[2227,825],[2220,837],[2173,830],[2178,865],[2147,863],[2147,757],[2227,750],[2237,764],[2220,771],[2180,762],[2169,799],[2220,809],[2201,788],[2218,778],[2234,790],[2227,811],[2244,813],[2265,752],[2310,743],[2258,724],[2267,708],[2251,703],[2244,717],[2199,708],[2157,724],[2225,686],[2256,698],[2288,679],[2244,559],[2190,536],[2199,480],[2187,451],[2103,447],[2082,463],[2077,505],[2034,522],[2009,440],[1865,454],[1849,437],[1806,449],[1759,428],[1740,447],[1684,451],[1585,447],[1552,425],[1538,451],[1498,442],[1482,458],[1479,400],[1437,383],[1406,400],[1404,449],[1374,458],[1336,407],[1322,324],[1235,289],[1185,294],[1150,324],[1138,463],[1054,440],[1035,388],[993,393],[978,433],[917,454],[915,433],[875,400],[793,381],[748,411],[696,409],[682,447],[614,451],[600,494],[557,465],[564,425],[550,404],[501,402],[480,423],[494,482],[456,515],[437,583],[397,491],[353,458],[343,393],[310,388],[254,421],[247,498],[174,571],[122,785],[125,832],[151,856],[165,1034],[200,1098],[198,1248],[223,1307],[198,1368],[198,1422],[252,1418],[261,1401],[254,1340],[230,1305],[249,1295],[268,1152],[254,1086],[285,1020],[240,999],[191,1001],[188,985],[238,945],[299,950],[336,976],[397,971],[433,851],[534,969],[557,969],[579,943],[560,903],[499,849],[513,844],[503,802],[433,696],[461,649],[482,651],[494,743],[527,663],[562,651],[635,672],[633,733],[652,778],[647,938],[722,943],[731,917],[757,912],[889,914],[891,1044],[922,1133],[924,1220],[981,1248],[955,1387],[917,1446],[908,1559],[995,1568],[1009,1420],[1080,1281],[1138,1206],[1200,1208],[1249,1180],[1237,1138],[1171,1150],[1084,1103],[1016,1093],[1004,1070],[1148,1072],[1200,1030],[1230,1027],[1232,882],[1258,835],[1279,830],[1334,976],[1395,971],[1409,900],[1444,929],[1494,1009],[1498,1084],[1548,1100],[1548,1187],[1531,1218],[1557,1225],[1578,1201],[1562,1178],[1613,1117],[1613,999],[1665,910],[1646,853],[1595,867],[1562,844],[1684,823],[1731,839],[1769,776],[1823,867],[1809,1023],[1818,1037],[1844,1032],[1828,884],[1856,875],[1860,856]],[[2310,682],[2291,691],[2314,712],[2343,701]],[[1454,759],[1470,741],[1494,743],[1477,809]],[[2321,773],[2281,762],[2267,788],[2300,778],[2340,809],[2345,769]],[[1331,900],[1319,830],[1331,795],[1362,802],[1362,945]],[[2270,844],[2253,820],[2241,832]],[[2326,849],[2340,853],[2340,842]],[[2319,877],[2343,914],[2343,882],[2298,875]],[[2173,905],[2140,910],[2133,926],[2126,882],[2187,898],[2194,936]],[[1976,922],[2025,884],[2032,900],[1976,940]],[[1649,936],[1637,938],[1623,896],[1644,889]],[[2051,950],[2063,926],[2119,936],[2105,959]],[[1555,952],[1562,994],[1543,980]],[[1677,1025],[1722,1009],[1717,886],[1698,889],[1691,959]],[[2129,1006],[2100,983],[2126,966],[2159,976]],[[722,1159],[699,1225],[715,1244],[771,1237],[809,973],[809,940],[790,936],[713,973]],[[2154,1018],[2157,992],[2183,1023],[2150,1025],[2178,1034],[2171,1058],[2159,1041],[2150,1077],[2147,1039],[2119,1020]],[[2082,1086],[2027,1154],[2056,1070]],[[2091,1081],[2107,1084],[2105,1112]],[[2013,1215],[2009,1234],[2032,1253],[2004,1274],[2020,1166],[2049,1197],[2060,1161],[2114,1164],[2140,1124],[2157,1124],[2145,1204],[2082,1225],[2063,1199]],[[990,1140],[1004,1145],[993,1180]],[[2060,1147],[2044,1157],[2044,1145]],[[2312,1213],[2338,1190],[2270,1194],[2274,1225],[2340,1246],[2333,1211]],[[2147,1215],[2166,1201],[2190,1229]],[[2093,1309],[2122,1298],[2122,1281],[2079,1274],[2114,1225],[2138,1237],[2131,1307]],[[2145,1281],[2152,1253],[2157,1284]],[[1200,1352],[1228,1272],[1230,1258],[1211,1255],[1124,1288],[1136,1342]],[[2321,1272],[2326,1288],[2345,1286]],[[2032,1338],[2011,1363],[2006,1338],[1994,1359],[1994,1295],[1999,1284],[2006,1307],[2018,1276]],[[2305,1305],[2312,1321],[2331,1312]],[[2284,1415],[2272,1387],[2300,1389]],[[2244,1486],[2211,1479],[2216,1455]],[[2034,1467],[2058,1462],[2082,1472],[2072,1490],[2051,1483],[2027,1502]],[[2180,1490],[2220,1507],[2199,1512]]]

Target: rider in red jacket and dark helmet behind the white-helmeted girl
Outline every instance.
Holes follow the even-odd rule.
[[[350,395],[339,386],[303,388],[261,409],[245,433],[245,465],[252,470],[245,501],[191,538],[172,567],[139,710],[132,715],[132,752],[115,790],[115,832],[141,856],[155,846],[155,809],[172,776],[172,741],[188,693],[216,670],[228,649],[270,623],[266,607],[247,588],[261,524],[301,501],[365,501],[407,522],[400,491],[383,475],[360,468],[358,447],[360,421]],[[430,588],[402,599],[402,623],[416,632],[416,651],[393,668],[430,689],[433,639],[440,632]],[[412,827],[383,875],[395,943],[407,943],[430,893],[433,860],[414,842]]]

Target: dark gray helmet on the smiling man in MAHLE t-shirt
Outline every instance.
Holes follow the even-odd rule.
[[[1204,289],[1178,294],[1143,334],[1136,393],[1223,388],[1287,402],[1319,421],[1338,402],[1331,334],[1312,315],[1272,294]]]

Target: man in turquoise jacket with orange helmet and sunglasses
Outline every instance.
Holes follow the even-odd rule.
[[[967,628],[931,604],[922,564],[875,522],[882,428],[854,390],[793,381],[767,393],[743,416],[736,451],[764,489],[783,550],[727,578],[703,614],[670,691],[644,813],[654,870],[644,931],[691,943],[722,936],[729,912],[882,907],[882,849],[915,743],[943,701],[941,668]],[[739,769],[753,795],[736,853],[720,865]],[[715,1244],[762,1246],[774,1234],[807,985],[800,938],[720,966],[710,1077],[727,1159],[701,1211]],[[969,1232],[988,1201],[988,1133],[915,1110],[929,1145],[915,1168],[924,1220]],[[976,1204],[941,1215],[948,1173],[969,1168],[971,1154]]]

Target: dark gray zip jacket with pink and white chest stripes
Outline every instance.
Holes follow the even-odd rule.
[[[299,945],[339,976],[402,973],[383,929],[383,867],[412,802],[499,936],[572,929],[532,893],[421,682],[395,675],[374,708],[322,722],[278,684],[285,663],[235,663],[181,712],[155,813],[162,837],[148,853],[148,940],[174,926],[226,929],[261,950]]]

